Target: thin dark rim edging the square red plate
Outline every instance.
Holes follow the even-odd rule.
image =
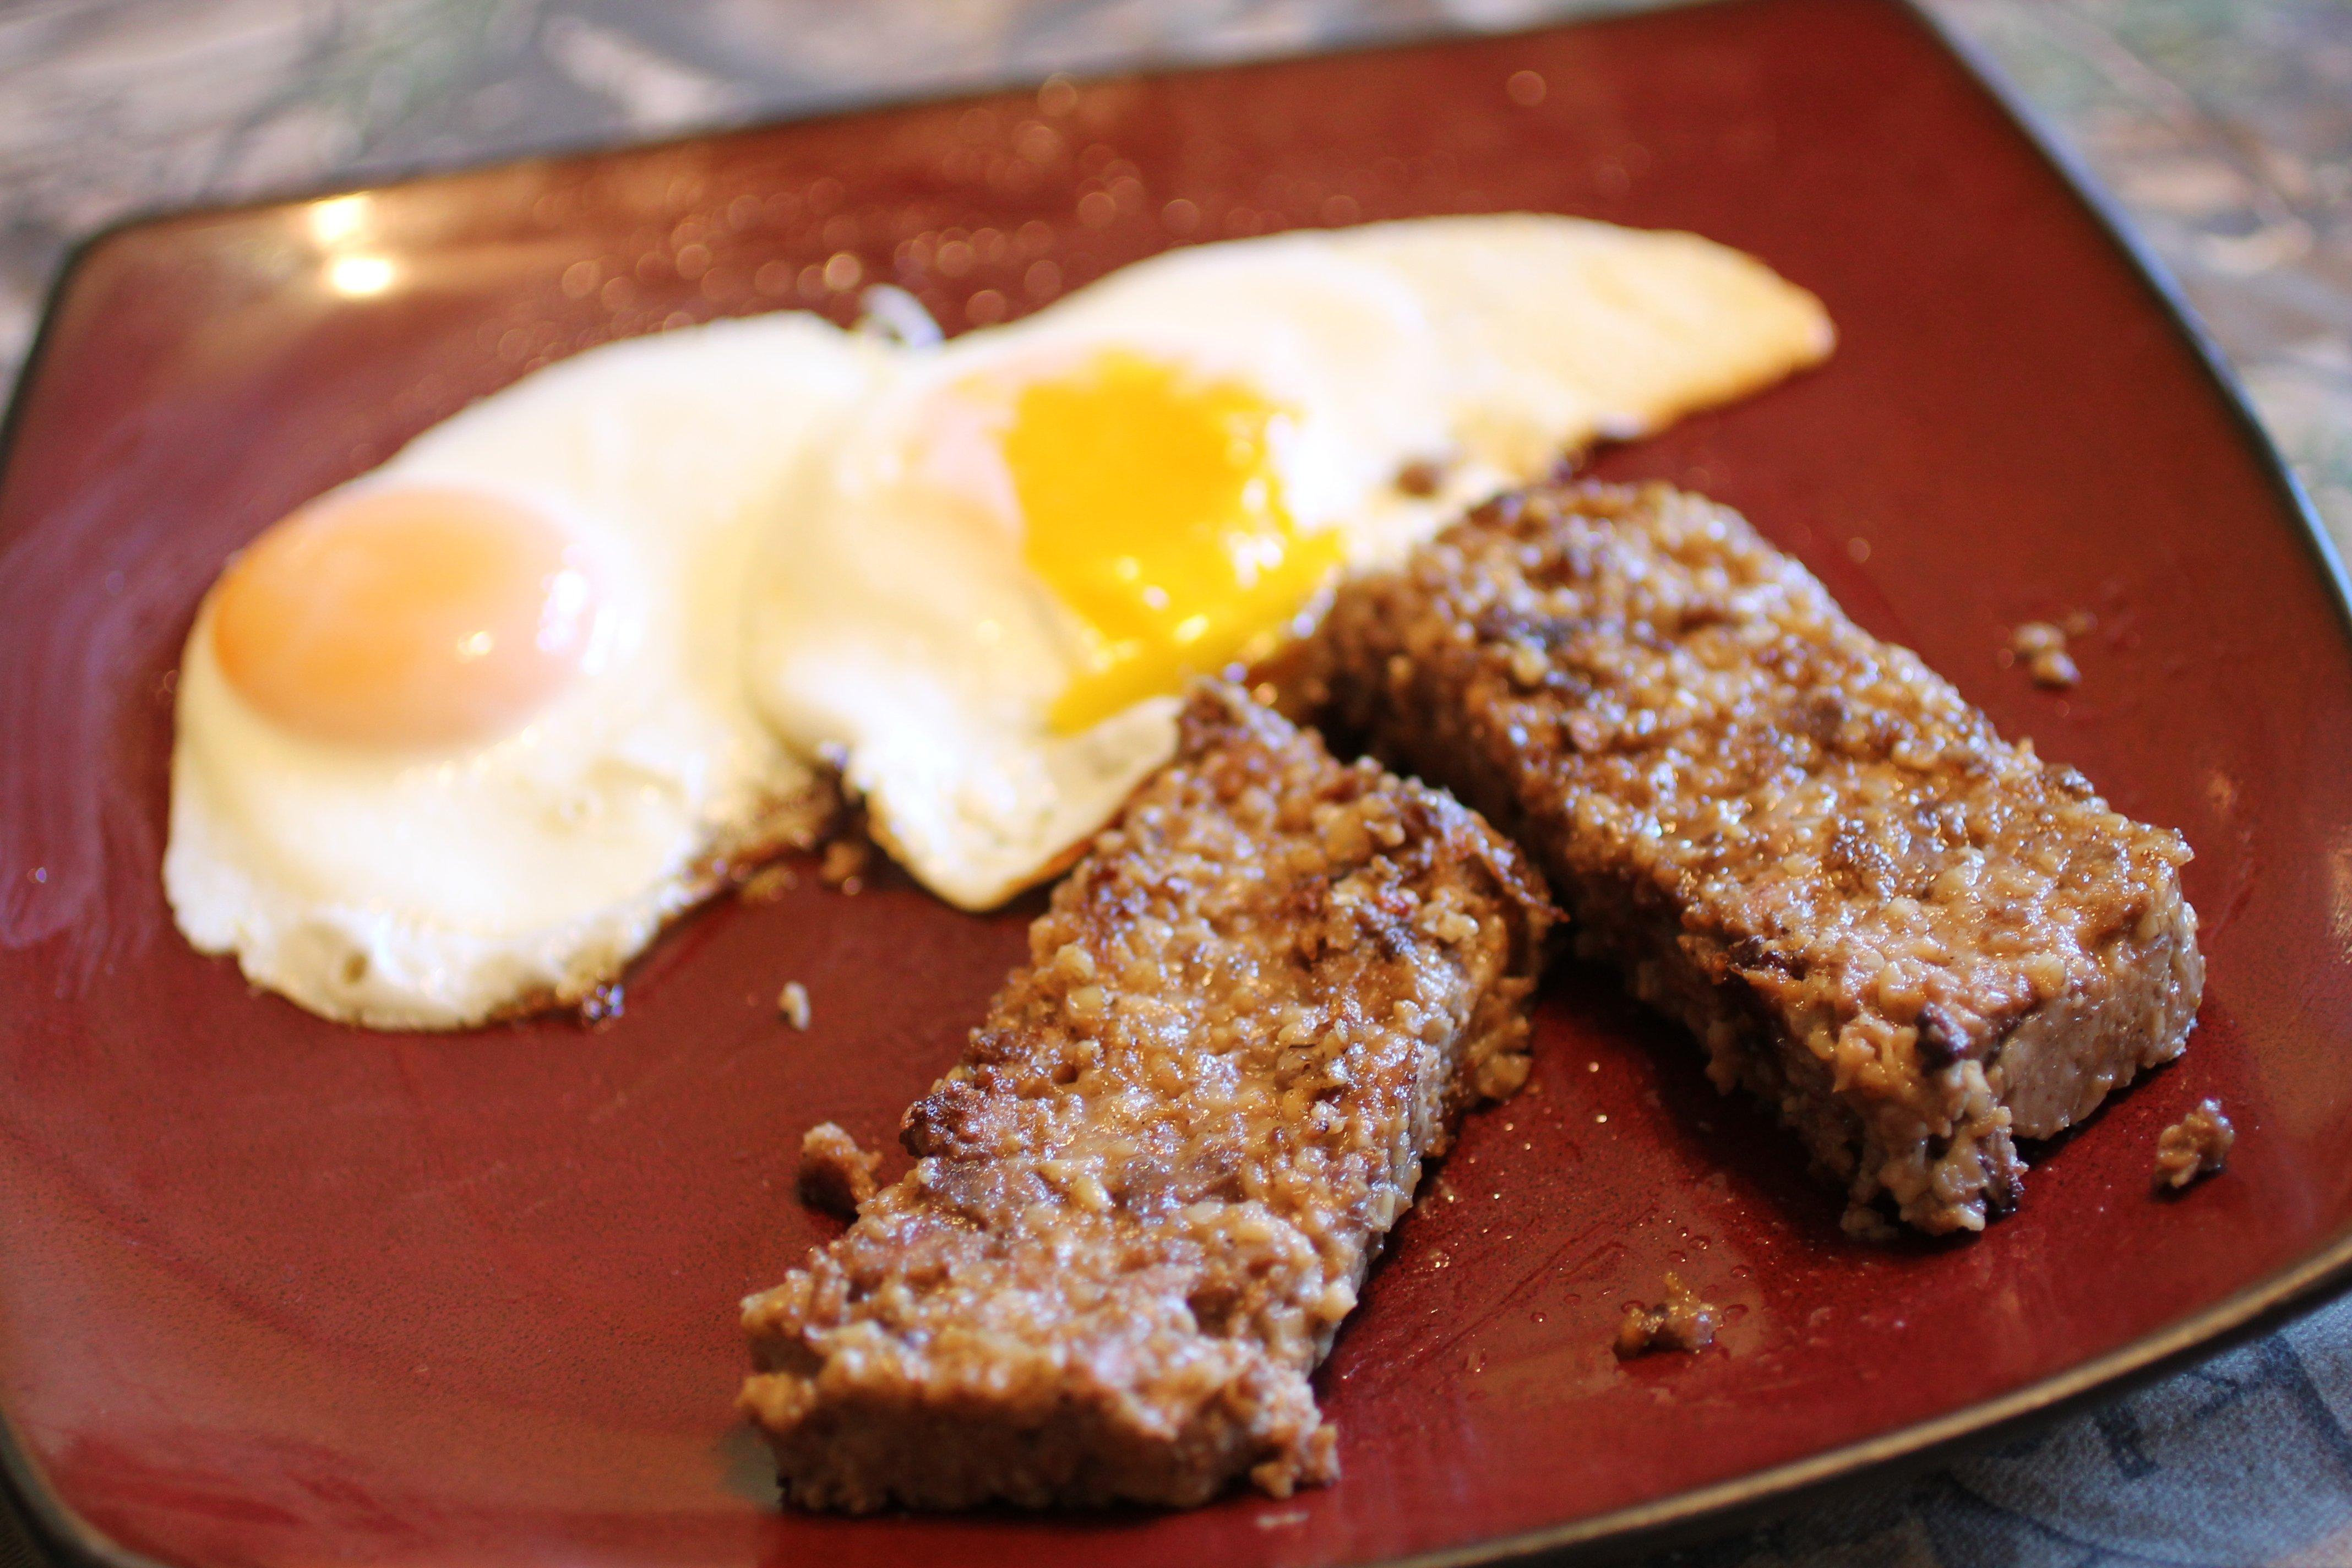
[[[1733,2],[1738,0],[1663,0],[1661,5],[1644,5],[1642,0],[1595,0],[1590,9],[1573,16],[1541,21],[1526,28],[1402,28],[1376,38],[1348,40],[1324,49],[1275,49],[1235,59],[1143,59],[1127,68],[1049,73],[1049,78],[1058,75],[1087,85],[1197,75],[1207,71],[1247,71],[1251,66],[1343,59],[1350,54],[1399,52],[1444,42],[1534,38],[1590,24],[1621,21],[1628,16],[1703,9]],[[2237,428],[2239,442],[2260,470],[2272,498],[2293,520],[2307,564],[2317,571],[2336,611],[2336,630],[2347,644],[2352,644],[2352,576],[2345,571],[2345,562],[2336,550],[2333,536],[2321,522],[2310,491],[2305,491],[2300,477],[2296,477],[2296,470],[2288,465],[2286,454],[2279,451],[2270,428],[2263,425],[2237,369],[2223,355],[2220,343],[2206,324],[2197,317],[2171,268],[2131,226],[2122,205],[2098,181],[2089,162],[2058,134],[2053,122],[2039,108],[2025,101],[1987,49],[1957,33],[1929,7],[1929,0],[1867,2],[1879,5],[1882,9],[1900,12],[1933,47],[1943,49],[1955,63],[1959,63],[1964,75],[1969,75],[1969,80],[1992,99],[2018,134],[2023,134],[2032,153],[2049,165],[2065,190],[2082,205],[2105,242],[2122,254],[2131,275],[2154,296],[2159,315],[2190,348],[2197,367],[2204,371],[2206,386],[2218,393],[2232,425]],[[31,407],[31,390],[38,383],[42,367],[54,355],[56,324],[64,315],[66,296],[82,273],[89,270],[99,252],[129,235],[188,219],[233,216],[289,202],[376,193],[435,179],[466,179],[475,174],[524,169],[543,162],[694,146],[790,125],[847,120],[910,106],[978,101],[1004,92],[1018,92],[1021,87],[1030,87],[1049,78],[1016,73],[985,82],[955,85],[946,92],[884,92],[851,103],[818,106],[809,113],[771,115],[748,120],[743,125],[684,132],[675,136],[550,146],[513,158],[494,158],[456,167],[395,169],[367,183],[327,183],[238,202],[136,209],[75,242],[42,292],[33,339],[16,369],[7,411],[0,414],[0,484],[5,484],[12,458],[16,456],[24,414]],[[2251,1338],[2277,1331],[2345,1293],[2352,1293],[2352,1227],[2296,1262],[2241,1286],[2201,1312],[2192,1312],[2173,1324],[2166,1324],[2164,1328],[2157,1328],[2154,1333],[2145,1333],[2138,1340],[2119,1345],[2103,1356],[2079,1361],[2060,1373],[2009,1389],[2006,1394],[1994,1394],[1992,1399],[1980,1399],[1957,1410],[1896,1427],[1893,1432],[1882,1432],[1877,1436],[1825,1448],[1799,1460],[1752,1469],[1748,1474],[1696,1486],[1668,1497],[1637,1502],[1566,1523],[1494,1535],[1461,1547],[1439,1547],[1435,1552],[1378,1559],[1364,1563],[1362,1568],[1482,1568],[1486,1563],[1515,1563],[1538,1556],[1557,1561],[1592,1561],[1592,1556],[1604,1552],[1609,1556],[1618,1556],[1712,1540],[1729,1535],[1740,1526],[1783,1516],[1806,1502],[1825,1500],[1844,1488],[1910,1476],[1962,1458],[1964,1453],[1985,1448],[1999,1439],[2053,1425],[2065,1415],[2089,1408],[2091,1403],[2117,1399],[2131,1389],[2154,1382],[2157,1378],[2164,1378],[2166,1373],[2183,1371],[2197,1361],[2206,1361],[2244,1345]],[[5,1403],[0,1403],[0,1507],[16,1514],[21,1535],[35,1549],[49,1554],[59,1568],[169,1568],[162,1559],[125,1547],[82,1519],[49,1486],[40,1462],[33,1460],[28,1443],[16,1429],[16,1418],[9,1415]],[[0,1519],[0,1533],[5,1533],[5,1526],[7,1521]]]

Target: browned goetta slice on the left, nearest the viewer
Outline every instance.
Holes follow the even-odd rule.
[[[908,1110],[915,1168],[746,1302],[783,1495],[1329,1481],[1308,1373],[1456,1114],[1524,1081],[1548,924],[1475,813],[1202,686]]]

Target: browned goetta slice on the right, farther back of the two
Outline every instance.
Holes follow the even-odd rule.
[[[1503,496],[1341,590],[1308,705],[1456,790],[1576,947],[1682,1018],[1846,1185],[1926,1232],[2023,1192],[2018,1138],[2180,1053],[2180,835],[2011,745],[1736,512]]]

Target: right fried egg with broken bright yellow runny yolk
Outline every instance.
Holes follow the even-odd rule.
[[[790,487],[750,679],[920,882],[990,907],[1169,757],[1192,675],[1275,651],[1338,571],[1830,341],[1750,256],[1576,219],[1171,252],[894,357]]]

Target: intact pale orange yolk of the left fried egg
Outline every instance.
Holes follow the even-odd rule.
[[[228,684],[310,741],[449,748],[522,726],[581,668],[595,588],[539,512],[466,489],[313,501],[228,571]]]

